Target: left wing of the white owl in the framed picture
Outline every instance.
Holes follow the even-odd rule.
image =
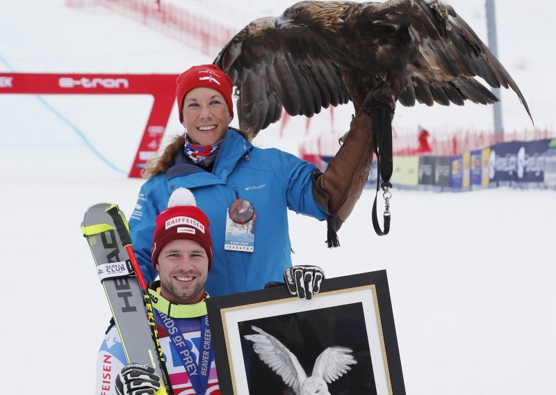
[[[272,334],[268,334],[256,326],[251,328],[259,334],[247,334],[244,337],[253,342],[255,353],[259,354],[261,361],[275,371],[286,385],[292,387],[295,393],[299,394],[302,382],[306,380],[307,375],[297,357]]]

